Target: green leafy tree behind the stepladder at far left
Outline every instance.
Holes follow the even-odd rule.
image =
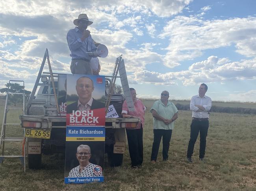
[[[0,89],[1,93],[7,93],[8,88],[10,93],[23,93],[23,86],[20,84],[7,83],[5,84],[5,86],[6,87]],[[25,100],[26,98],[28,98],[28,96],[30,96],[30,94],[31,94],[31,91],[28,91],[25,89]],[[17,103],[22,102],[22,95],[19,95],[19,94],[8,95],[8,99],[10,100],[10,102],[14,104],[14,106],[16,106]]]

